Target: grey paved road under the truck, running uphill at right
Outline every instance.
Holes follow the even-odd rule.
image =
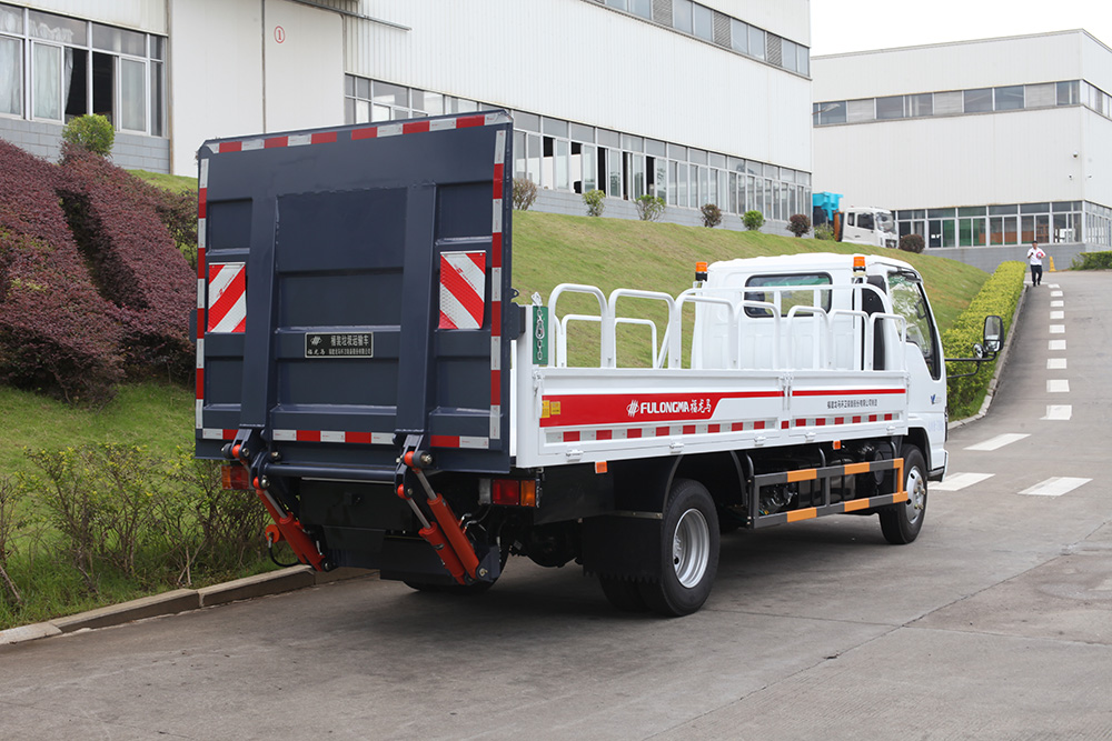
[[[729,535],[677,620],[515,559],[476,598],[364,579],[0,647],[0,738],[1110,739],[1110,286],[1029,289],[911,545]]]

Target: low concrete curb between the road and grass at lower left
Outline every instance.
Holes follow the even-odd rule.
[[[97,608],[75,615],[56,618],[48,622],[32,623],[0,630],[0,645],[23,643],[40,638],[62,635],[79,630],[121,625],[143,618],[157,618],[199,610],[200,608],[227,604],[239,600],[250,600],[269,594],[281,594],[306,587],[330,584],[336,581],[360,579],[377,574],[378,571],[367,569],[336,569],[329,572],[314,571],[311,567],[296,565],[279,571],[270,571],[236,579],[235,581],[201,589],[176,589],[162,594],[142,597],[130,602]]]

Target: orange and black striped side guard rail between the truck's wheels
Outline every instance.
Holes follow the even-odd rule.
[[[778,473],[762,473],[753,477],[753,489],[749,492],[749,512],[754,513],[752,523],[754,528],[766,528],[785,522],[800,522],[801,520],[812,520],[827,514],[843,514],[845,512],[857,512],[872,509],[874,507],[885,507],[887,504],[898,504],[907,501],[907,493],[903,489],[903,459],[896,458],[886,461],[867,461],[864,463],[847,463],[845,465],[828,465],[825,468],[801,469],[797,471],[782,471]],[[874,473],[877,471],[896,471],[895,491],[890,494],[878,494],[876,497],[864,497],[862,499],[851,499],[842,502],[831,502],[831,480],[858,473]],[[786,483],[797,483],[801,481],[818,481],[822,484],[822,501],[817,507],[807,507],[786,512],[773,514],[756,514],[759,512],[761,490],[766,487],[777,487]]]

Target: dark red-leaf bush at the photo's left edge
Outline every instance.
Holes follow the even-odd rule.
[[[89,280],[56,179],[0,140],[0,381],[105,401],[122,378],[118,312]]]

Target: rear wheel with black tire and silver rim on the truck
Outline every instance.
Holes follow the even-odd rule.
[[[698,481],[676,479],[664,508],[661,580],[638,584],[645,604],[669,618],[703,607],[718,571],[718,541],[711,492]]]

